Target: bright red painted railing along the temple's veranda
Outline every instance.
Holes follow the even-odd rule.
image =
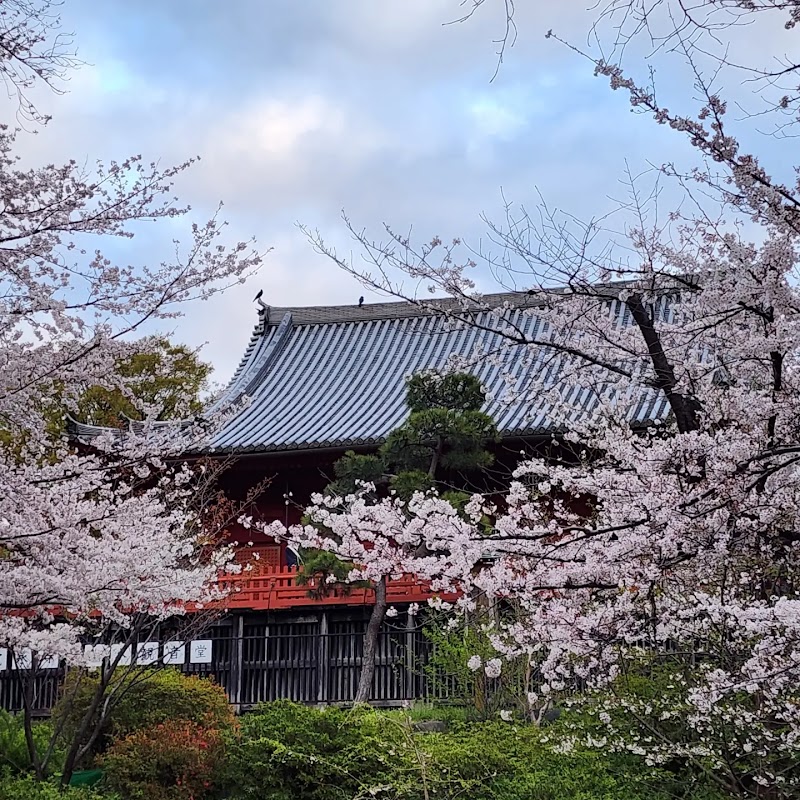
[[[353,587],[350,591],[331,588],[320,598],[312,596],[317,589],[312,579],[306,585],[297,583],[297,567],[268,567],[257,574],[241,572],[225,575],[220,586],[227,597],[220,602],[224,608],[273,611],[309,606],[363,606],[375,602],[372,589]],[[433,593],[428,586],[412,576],[389,581],[386,596],[391,605],[398,603],[424,603]],[[445,597],[452,599],[452,597]]]

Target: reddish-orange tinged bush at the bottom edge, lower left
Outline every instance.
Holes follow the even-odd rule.
[[[101,766],[126,800],[202,800],[216,791],[224,752],[219,730],[171,720],[116,741]]]

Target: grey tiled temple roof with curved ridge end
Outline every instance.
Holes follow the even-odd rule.
[[[516,295],[490,295],[484,308],[513,302],[507,322],[527,339],[544,328],[535,308]],[[441,311],[448,312],[442,316]],[[459,321],[469,317],[469,322]],[[426,307],[406,302],[363,306],[263,306],[245,354],[212,408],[245,401],[241,411],[209,442],[210,452],[268,453],[313,448],[377,445],[405,420],[405,379],[422,370],[454,364],[476,375],[487,390],[484,410],[505,438],[551,434],[563,429],[543,396],[525,384],[554,384],[564,359],[509,345],[496,313],[465,310],[455,301]],[[245,399],[247,398],[247,400]],[[575,386],[564,396],[571,413],[589,414],[594,392]],[[666,416],[663,396],[642,389],[631,422]],[[80,426],[79,436],[91,435]]]

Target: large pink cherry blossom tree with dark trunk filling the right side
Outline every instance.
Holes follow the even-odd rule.
[[[630,175],[616,229],[509,204],[488,223],[493,253],[475,255],[458,241],[415,244],[391,228],[375,241],[352,226],[366,268],[311,234],[368,286],[500,331],[506,358],[531,367],[511,388],[549,401],[552,447],[565,457],[521,463],[500,509],[474,501],[493,519],[496,558],[470,547],[476,529],[454,543],[446,511],[420,508],[413,524],[443,554],[422,572],[460,573],[462,588],[518,603],[522,617],[495,645],[537,665],[541,695],[603,690],[589,743],[689,763],[742,797],[800,791],[800,183],[741,143],[736,129],[749,142],[751,120],[731,120],[717,86],[740,68],[731,25],[772,14],[791,29],[798,13],[795,2],[747,0],[607,6],[615,41],[668,42],[699,97],[674,111],[649,76],[621,66],[614,53],[625,48],[583,54],[700,156],[688,169],[665,165],[649,188]],[[796,64],[790,53],[781,75],[757,74],[782,135],[796,112],[780,81],[796,82]],[[664,181],[682,192],[666,217]],[[476,290],[481,263],[519,302],[497,307]],[[410,297],[398,273],[460,302]],[[532,316],[541,324],[523,324]],[[570,496],[591,498],[589,510],[559,501]],[[659,691],[636,689],[659,676]]]

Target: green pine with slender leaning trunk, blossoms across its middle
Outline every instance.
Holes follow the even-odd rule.
[[[481,411],[485,392],[472,375],[418,373],[408,378],[405,423],[389,434],[376,455],[346,453],[336,464],[336,480],[313,498],[306,524],[288,530],[275,523],[267,532],[286,538],[304,555],[301,579],[326,586],[366,583],[375,600],[364,633],[362,666],[354,701],[369,702],[381,627],[391,616],[387,582],[430,569],[442,553],[428,547],[419,509],[456,531],[464,528],[459,507],[469,495],[453,478],[489,466],[485,449],[497,436],[491,417]],[[445,475],[450,481],[441,482]],[[443,490],[439,498],[437,488]],[[388,497],[386,496],[388,494]],[[411,501],[410,516],[406,501]],[[444,519],[443,519],[444,521]],[[440,543],[445,549],[446,544]],[[413,567],[409,567],[413,564]],[[431,570],[433,571],[433,570]],[[441,576],[437,577],[441,579]],[[396,613],[396,611],[394,612]]]

